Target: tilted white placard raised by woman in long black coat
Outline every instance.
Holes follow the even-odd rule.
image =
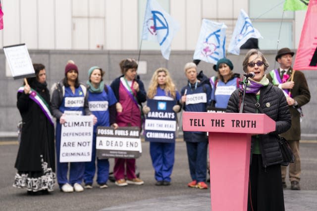
[[[13,79],[35,77],[35,71],[26,45],[4,46],[3,51]]]

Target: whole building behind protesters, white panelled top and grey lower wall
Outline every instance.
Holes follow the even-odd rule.
[[[204,18],[227,25],[228,46],[240,9],[246,11],[264,39],[259,47],[276,68],[277,48],[296,51],[306,11],[284,12],[284,0],[157,0],[180,24],[173,39],[169,60],[165,60],[155,42],[142,42],[138,74],[148,89],[152,75],[159,67],[170,71],[178,90],[187,83],[184,65],[192,61],[201,23]],[[49,86],[64,77],[67,60],[75,61],[79,79],[87,81],[92,66],[106,71],[104,81],[110,84],[120,75],[119,62],[139,56],[146,0],[1,0],[4,29],[0,31],[0,47],[26,43],[33,63],[43,63]],[[227,54],[234,72],[242,73],[240,55]],[[211,77],[212,65],[201,62],[199,71]],[[301,124],[304,139],[317,139],[317,77],[315,71],[303,71],[312,93],[304,106]],[[0,52],[0,138],[16,137],[16,124],[21,120],[16,108],[16,92],[23,80],[13,80]],[[2,135],[1,135],[2,134]]]

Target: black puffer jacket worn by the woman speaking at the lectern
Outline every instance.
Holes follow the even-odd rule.
[[[231,113],[239,113],[239,89],[235,90],[229,99],[227,111]],[[245,96],[245,104],[243,113],[261,113],[257,112],[256,94],[247,93]],[[275,121],[275,131],[260,136],[260,147],[262,152],[263,166],[271,166],[282,163],[282,154],[278,145],[278,134],[285,132],[291,127],[291,115],[285,95],[281,89],[272,84],[268,84],[260,89],[259,103],[264,114]],[[255,137],[252,136],[251,153],[253,152],[253,144]],[[252,156],[251,156],[252,158]],[[250,162],[251,164],[251,162]]]

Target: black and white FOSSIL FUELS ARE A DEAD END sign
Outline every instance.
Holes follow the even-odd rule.
[[[142,153],[139,127],[97,127],[96,154],[105,158],[139,158]]]

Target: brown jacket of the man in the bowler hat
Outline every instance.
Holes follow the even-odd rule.
[[[289,76],[292,75],[293,69],[290,68],[287,71]],[[272,83],[272,77],[267,74],[269,82]],[[290,81],[291,77],[288,81]],[[301,124],[300,124],[300,113],[297,108],[302,107],[306,103],[308,103],[311,99],[311,93],[308,88],[308,84],[305,78],[305,75],[301,71],[295,71],[294,73],[294,87],[291,89],[292,97],[297,101],[297,106],[289,106],[289,110],[292,117],[292,127],[286,132],[280,134],[282,137],[286,138],[286,140],[300,140],[301,139]]]

